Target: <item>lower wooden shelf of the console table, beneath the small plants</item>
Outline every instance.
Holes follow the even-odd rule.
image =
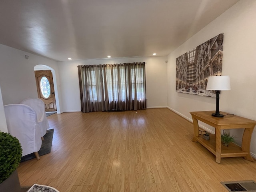
[[[215,135],[210,135],[210,140],[205,140],[202,135],[194,136],[194,142],[199,142],[216,156],[216,138]],[[248,152],[242,151],[242,148],[234,143],[230,143],[228,147],[221,146],[220,158],[223,157],[246,157]]]

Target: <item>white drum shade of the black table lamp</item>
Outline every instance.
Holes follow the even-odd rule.
[[[206,90],[230,90],[229,76],[211,76],[208,78]]]

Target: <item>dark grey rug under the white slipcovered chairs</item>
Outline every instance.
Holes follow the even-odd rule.
[[[42,141],[42,146],[38,151],[39,156],[48,154],[52,150],[52,137],[53,137],[54,129],[48,129],[46,134],[44,135],[44,140]],[[24,162],[30,159],[36,158],[34,153],[25,155],[21,158],[20,162]]]

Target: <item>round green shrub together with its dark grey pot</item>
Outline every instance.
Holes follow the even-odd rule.
[[[0,191],[20,192],[20,181],[16,168],[20,164],[22,148],[19,140],[0,132]]]

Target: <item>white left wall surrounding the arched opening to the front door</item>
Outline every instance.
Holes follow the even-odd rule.
[[[29,58],[25,59],[25,55]],[[34,66],[42,64],[56,70],[57,62],[0,44],[0,85],[3,104],[20,103],[31,97],[38,97]]]

